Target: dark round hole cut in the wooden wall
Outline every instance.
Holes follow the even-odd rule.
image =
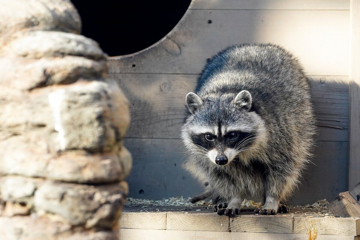
[[[82,35],[99,42],[109,56],[143,50],[162,39],[180,21],[191,0],[71,0]]]

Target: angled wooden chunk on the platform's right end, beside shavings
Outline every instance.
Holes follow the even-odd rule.
[[[360,204],[348,191],[339,193],[339,195],[329,203],[328,209],[335,217],[360,217]]]

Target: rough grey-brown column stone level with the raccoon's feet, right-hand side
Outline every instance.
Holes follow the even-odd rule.
[[[46,182],[35,192],[35,209],[73,226],[113,227],[125,203],[126,184],[91,186]]]

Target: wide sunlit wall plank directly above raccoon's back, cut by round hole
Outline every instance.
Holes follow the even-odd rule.
[[[347,10],[189,9],[153,46],[109,58],[108,71],[198,74],[207,58],[229,45],[272,42],[297,56],[309,75],[348,76],[348,21]]]

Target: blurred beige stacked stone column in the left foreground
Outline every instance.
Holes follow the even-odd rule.
[[[0,239],[113,240],[129,103],[69,0],[0,0]]]

